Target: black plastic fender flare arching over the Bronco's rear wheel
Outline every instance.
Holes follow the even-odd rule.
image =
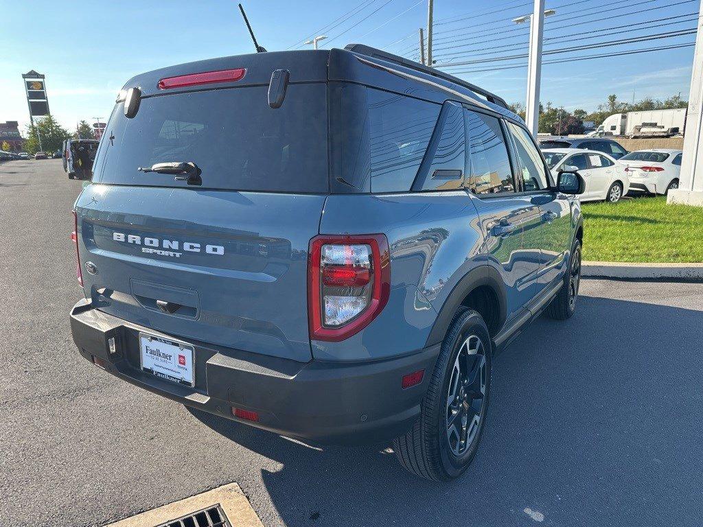
[[[449,330],[449,325],[451,320],[456,314],[456,310],[461,305],[463,299],[467,297],[470,292],[479,286],[487,285],[498,298],[498,330],[503,327],[505,323],[505,313],[507,312],[507,300],[505,298],[505,285],[501,274],[498,273],[496,268],[484,264],[480,267],[474,268],[468,273],[466,273],[461,280],[454,286],[449,297],[444,301],[444,305],[441,306],[437,319],[434,320],[432,325],[432,330],[427,337],[427,342],[425,346],[433,346],[434,344],[439,344],[444,340],[444,335],[447,330]]]

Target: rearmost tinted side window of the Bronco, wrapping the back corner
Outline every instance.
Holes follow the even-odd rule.
[[[397,93],[330,83],[333,178],[352,191],[408,192],[440,110]]]

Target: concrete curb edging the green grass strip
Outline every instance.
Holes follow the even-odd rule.
[[[581,276],[588,278],[624,278],[635,280],[678,278],[702,280],[703,263],[619,263],[583,261]]]

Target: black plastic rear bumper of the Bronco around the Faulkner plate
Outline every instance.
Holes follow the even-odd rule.
[[[380,443],[404,434],[420,415],[439,354],[436,345],[390,360],[299,363],[191,340],[190,388],[141,371],[137,334],[160,332],[98,311],[89,300],[79,301],[70,318],[81,355],[112,375],[193,408],[313,443]],[[115,353],[108,349],[112,337]],[[402,389],[403,375],[417,370],[425,370],[423,382]],[[259,421],[234,417],[233,407],[257,412]]]

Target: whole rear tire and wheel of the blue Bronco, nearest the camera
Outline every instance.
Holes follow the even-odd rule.
[[[442,341],[420,417],[407,434],[393,441],[393,450],[408,471],[431,481],[450,481],[467,469],[486,423],[492,353],[481,315],[460,308]]]

